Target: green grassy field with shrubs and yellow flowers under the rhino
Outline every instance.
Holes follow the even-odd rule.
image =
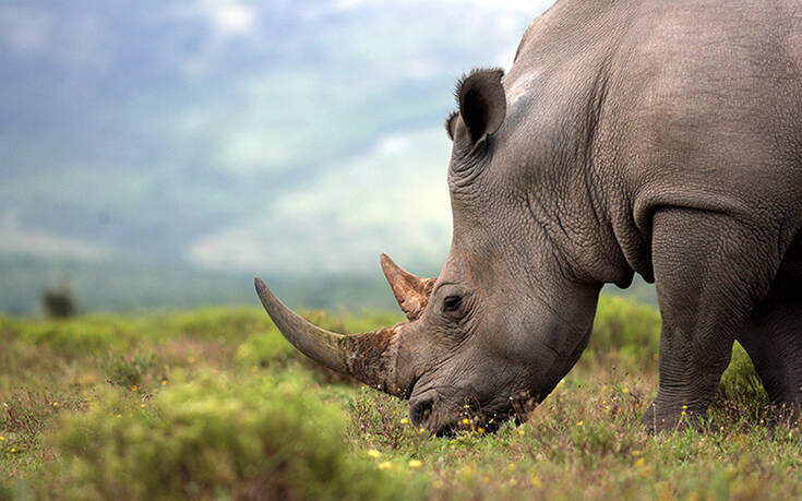
[[[399,317],[308,312],[348,332]],[[659,315],[603,297],[525,424],[453,438],[314,367],[251,309],[0,317],[0,499],[789,499],[802,439],[737,347],[704,429],[648,436]]]

